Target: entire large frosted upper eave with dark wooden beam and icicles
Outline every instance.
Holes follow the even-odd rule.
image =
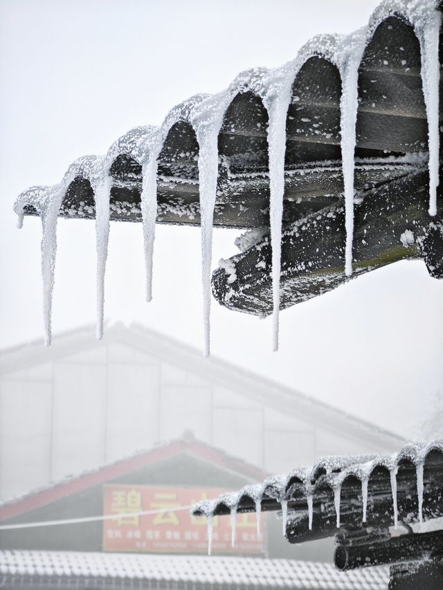
[[[314,37],[291,62],[273,70],[252,68],[216,95],[193,96],[171,109],[159,127],[136,127],[106,156],[77,160],[57,187],[22,194],[15,206],[19,227],[25,214],[41,216],[44,226],[46,341],[56,218],[95,217],[99,337],[109,220],[143,224],[147,301],[156,222],[188,223],[201,225],[204,354],[210,352],[214,226],[247,231],[236,240],[240,255],[224,259],[215,271],[213,293],[228,308],[271,313],[278,349],[282,308],[379,266],[374,252],[361,256],[390,211],[386,206],[379,222],[363,223],[361,211],[372,191],[393,182],[406,185],[409,174],[426,167],[420,190],[428,191],[426,214],[437,214],[441,21],[436,0],[385,0],[356,33]],[[343,221],[343,243],[337,220]],[[408,216],[401,223],[393,231],[395,247],[385,244],[390,253],[383,264],[419,255],[433,276],[440,275],[431,271],[439,264],[428,261],[429,252],[433,258],[440,252],[433,235],[428,237],[428,220],[420,213],[420,219]],[[408,226],[413,224],[419,227]],[[360,233],[364,225],[368,236]],[[316,241],[314,255],[287,259],[287,242],[305,252],[307,238]],[[407,252],[397,250],[399,245]],[[251,252],[255,261],[245,271],[237,262],[246,255],[252,260]],[[305,274],[288,281],[294,268]],[[321,278],[307,279],[316,273]],[[226,289],[219,288],[222,278]],[[245,285],[261,289],[251,293],[247,309]],[[270,309],[264,308],[266,299]]]

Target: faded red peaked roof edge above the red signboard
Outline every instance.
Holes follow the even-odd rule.
[[[242,459],[233,457],[233,455],[199,441],[194,436],[183,435],[181,439],[169,443],[157,443],[149,450],[137,452],[131,457],[107,463],[97,469],[83,472],[78,476],[64,478],[61,481],[50,483],[44,488],[32,490],[17,499],[8,500],[0,504],[0,522],[30,512],[30,510],[41,508],[53,501],[82,492],[88,488],[113,481],[147,465],[167,461],[179,454],[187,454],[218,468],[242,475],[245,479],[249,479],[251,483],[256,483],[269,475],[255,465],[246,463]]]

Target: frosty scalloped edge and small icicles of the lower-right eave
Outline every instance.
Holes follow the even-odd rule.
[[[257,527],[259,526],[262,502],[272,499],[282,508],[283,534],[286,532],[288,502],[297,493],[297,499],[305,497],[309,513],[309,530],[312,528],[312,506],[316,490],[327,486],[334,492],[336,508],[336,526],[340,527],[341,488],[346,479],[353,477],[361,482],[362,491],[362,522],[366,522],[366,508],[368,505],[368,483],[372,474],[379,468],[390,473],[392,488],[393,525],[397,527],[397,471],[402,462],[409,462],[415,466],[417,476],[418,519],[422,522],[424,483],[423,473],[426,460],[431,452],[443,454],[443,439],[431,443],[408,443],[398,453],[368,456],[323,457],[311,467],[301,467],[291,470],[284,475],[272,476],[262,483],[245,486],[237,492],[225,493],[216,499],[201,501],[192,508],[195,516],[205,516],[208,520],[208,539],[213,517],[220,511],[230,512],[231,519],[235,519],[242,499],[255,506]],[[235,542],[235,539],[233,539]],[[208,549],[210,553],[210,546]]]

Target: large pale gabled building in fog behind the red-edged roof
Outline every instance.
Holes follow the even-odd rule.
[[[404,443],[136,324],[109,326],[100,341],[90,326],[60,334],[50,349],[31,342],[2,351],[0,407],[3,500],[185,431],[273,473]]]

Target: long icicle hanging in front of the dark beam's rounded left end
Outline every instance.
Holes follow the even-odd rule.
[[[284,152],[286,149],[286,113],[288,102],[274,102],[269,109],[269,220],[272,250],[273,351],[278,351],[280,313],[280,269],[284,196]]]

